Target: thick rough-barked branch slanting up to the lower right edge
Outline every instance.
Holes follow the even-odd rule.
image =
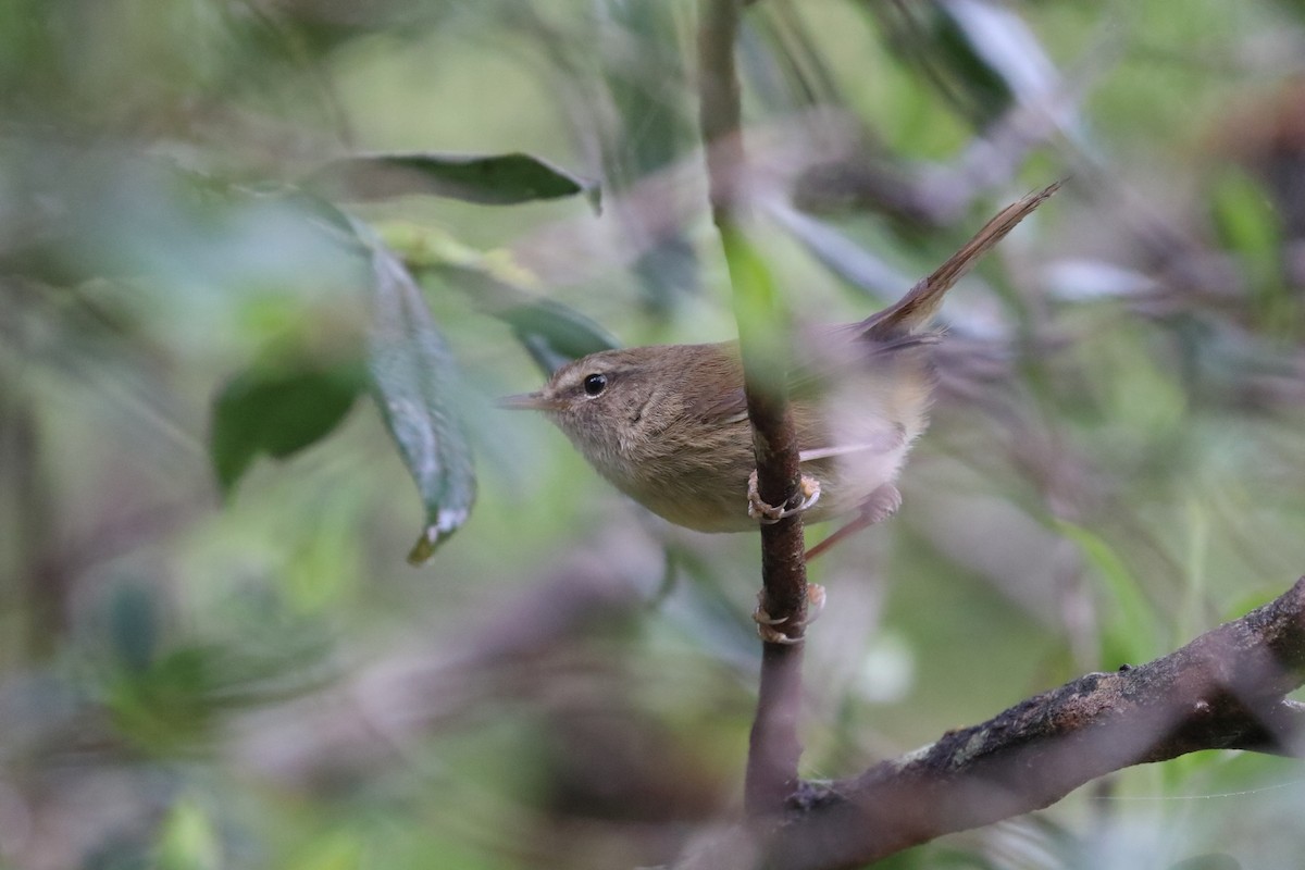
[[[1079,677],[981,725],[831,785],[806,785],[765,866],[857,867],[1058,801],[1130,764],[1203,749],[1287,754],[1305,706],[1305,578],[1138,668]]]

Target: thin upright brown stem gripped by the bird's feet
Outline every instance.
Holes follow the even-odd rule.
[[[758,492],[770,505],[788,505],[795,500],[800,470],[796,433],[783,389],[787,340],[778,322],[775,288],[740,227],[746,163],[735,42],[741,7],[741,0],[702,0],[699,4],[698,111],[711,217],[720,232],[739,321]],[[761,574],[762,608],[773,618],[782,620],[779,625],[784,634],[797,643],[766,643],[762,648],[757,715],[744,785],[744,803],[753,817],[779,813],[797,785],[801,754],[797,741],[800,642],[806,620],[806,563],[800,515],[761,527]]]

